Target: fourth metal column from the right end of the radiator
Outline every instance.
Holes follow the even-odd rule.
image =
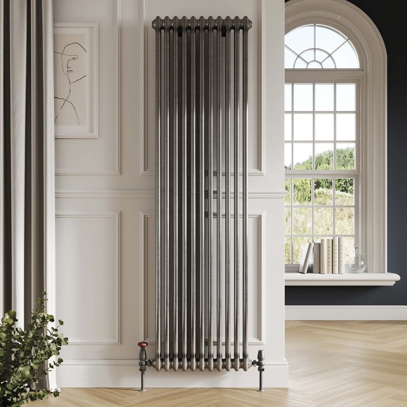
[[[217,164],[216,164],[216,203],[217,203],[217,293],[218,293],[218,321],[216,331],[216,349],[217,349],[217,369],[222,370],[222,19],[216,20],[217,31]]]

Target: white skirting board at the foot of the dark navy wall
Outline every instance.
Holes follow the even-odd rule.
[[[407,321],[405,305],[286,305],[286,321]]]

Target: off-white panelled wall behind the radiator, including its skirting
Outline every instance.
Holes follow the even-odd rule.
[[[249,32],[249,357],[266,387],[284,358],[283,0],[54,0],[55,22],[98,23],[97,138],[56,140],[56,316],[70,345],[61,387],[139,386],[137,342],[155,338],[157,16],[227,15]],[[146,373],[147,387],[256,387],[258,372]]]

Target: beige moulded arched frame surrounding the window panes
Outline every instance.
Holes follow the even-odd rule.
[[[387,53],[379,30],[358,7],[345,0],[290,0],[285,4],[285,33],[306,24],[328,25],[350,39],[358,69],[286,69],[286,82],[329,83],[342,74],[360,86],[359,217],[355,234],[368,272],[387,272]]]

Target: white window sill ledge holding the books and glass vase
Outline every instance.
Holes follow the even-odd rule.
[[[285,273],[285,285],[394,285],[395,273],[313,274]]]

